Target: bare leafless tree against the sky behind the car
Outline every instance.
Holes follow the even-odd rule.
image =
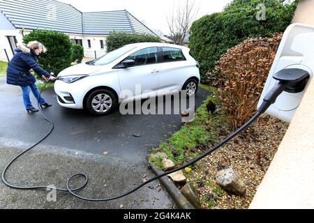
[[[190,31],[190,26],[198,13],[195,0],[184,0],[184,4],[182,1],[178,1],[178,5],[172,7],[171,15],[167,16],[170,39],[177,45],[184,45],[184,38]]]

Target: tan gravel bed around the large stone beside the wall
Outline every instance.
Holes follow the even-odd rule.
[[[205,157],[194,171],[186,174],[189,180],[196,182],[202,206],[222,209],[248,208],[288,125],[276,118],[263,115],[246,132]],[[219,130],[219,140],[223,140],[228,133],[230,133],[228,130]],[[215,194],[218,185],[214,183],[214,177],[220,169],[227,168],[237,171],[244,180],[247,187],[244,197],[221,190]]]

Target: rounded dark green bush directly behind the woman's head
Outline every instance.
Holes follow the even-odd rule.
[[[23,38],[26,44],[33,40],[38,40],[48,49],[47,53],[38,56],[38,64],[43,69],[58,75],[61,70],[71,66],[72,43],[66,34],[57,31],[33,30]],[[37,77],[41,79],[39,75]]]

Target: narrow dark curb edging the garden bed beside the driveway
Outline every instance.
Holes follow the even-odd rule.
[[[154,174],[160,175],[163,174],[163,171],[159,167],[156,167],[155,164],[149,162],[149,166],[154,171]],[[161,185],[163,185],[163,188],[165,191],[170,195],[172,200],[177,204],[179,209],[196,209],[186,197],[179,191],[179,189],[170,181],[170,179],[167,176],[164,176],[162,178],[159,178],[159,181]]]

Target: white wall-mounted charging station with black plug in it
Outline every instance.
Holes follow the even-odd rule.
[[[310,75],[310,79],[313,77],[314,26],[291,24],[287,27],[257,107],[262,105],[265,95],[278,83],[278,80],[274,79],[276,73],[293,68],[305,70]],[[265,113],[291,122],[306,91],[306,82],[304,88],[281,93],[274,105],[271,105]]]

